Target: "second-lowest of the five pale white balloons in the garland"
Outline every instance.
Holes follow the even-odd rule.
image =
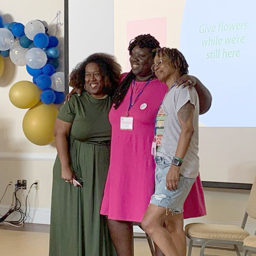
[[[27,51],[25,60],[31,69],[41,69],[47,62],[47,55],[40,48],[31,48]]]

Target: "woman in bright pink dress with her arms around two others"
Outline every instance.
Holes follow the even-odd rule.
[[[151,145],[154,120],[167,92],[166,84],[152,74],[153,49],[159,42],[148,35],[130,42],[132,70],[123,74],[109,113],[112,126],[110,166],[100,214],[108,218],[112,242],[119,256],[133,255],[132,222],[141,222],[154,192],[154,159]],[[200,114],[207,112],[211,95],[196,77],[185,75],[178,84],[194,86]],[[184,218],[206,214],[203,189],[198,176],[184,203]],[[168,223],[166,223],[168,229]],[[175,234],[173,234],[175,235]],[[156,255],[163,255],[156,249]]]

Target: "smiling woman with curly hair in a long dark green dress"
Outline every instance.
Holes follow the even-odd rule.
[[[70,86],[84,84],[84,91],[61,107],[54,126],[50,256],[116,255],[99,212],[109,166],[108,113],[120,74],[113,56],[96,53],[70,75]]]

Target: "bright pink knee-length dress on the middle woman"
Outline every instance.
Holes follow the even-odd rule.
[[[122,79],[125,76],[123,74]],[[146,83],[134,83],[132,102]],[[132,86],[119,108],[115,110],[112,107],[109,112],[112,126],[110,165],[100,209],[100,214],[107,215],[109,219],[141,222],[147,210],[154,193],[155,164],[151,155],[154,121],[166,92],[166,84],[157,79],[147,84],[129,112],[133,117],[132,131],[120,130],[120,117],[126,116]],[[202,183],[197,177],[184,203],[184,218],[205,214]]]

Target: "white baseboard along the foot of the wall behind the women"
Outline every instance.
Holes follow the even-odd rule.
[[[3,215],[6,212],[8,212],[9,206],[3,205],[0,206],[0,213]],[[23,208],[24,209],[24,208]],[[24,209],[25,210],[25,209]],[[28,223],[36,223],[36,224],[50,224],[50,219],[51,219],[51,210],[48,208],[35,208],[35,207],[30,207],[30,213],[29,213],[29,218],[26,220]],[[20,218],[20,214],[18,212],[12,213],[6,221],[11,221],[11,220],[17,220]],[[241,219],[242,221],[242,219]],[[210,224],[222,224],[222,225],[235,225],[235,226],[240,226],[240,222],[217,222],[217,221],[212,221],[212,220],[207,220],[207,219],[202,219],[200,217],[197,218],[191,218],[191,219],[185,219],[184,220],[184,226],[186,226],[189,223],[194,223],[194,222],[201,222],[201,223],[210,223]],[[256,229],[256,225],[248,223],[245,226],[245,230],[250,233],[250,235],[254,235]],[[133,232],[136,233],[144,233],[142,229],[138,226],[133,227]]]

